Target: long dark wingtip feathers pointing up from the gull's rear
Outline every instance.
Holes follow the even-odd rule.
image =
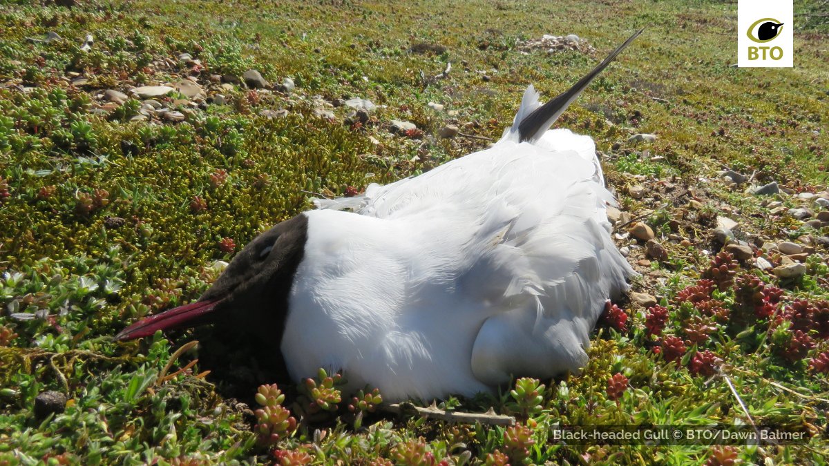
[[[624,49],[626,49],[634,39],[636,39],[645,28],[640,29],[638,32],[635,32],[633,36],[628,37],[627,41],[621,46],[616,47],[616,50],[610,52],[598,66],[596,66],[593,70],[591,70],[587,75],[579,80],[579,82],[575,83],[573,87],[569,90],[566,90],[564,93],[555,97],[555,99],[550,100],[546,104],[541,105],[541,107],[535,109],[531,114],[528,114],[526,118],[521,120],[521,123],[518,124],[518,134],[520,137],[521,142],[527,141],[532,142],[535,141],[537,138],[541,137],[547,129],[550,129],[555,120],[559,118],[561,114],[565,112],[567,107],[573,103],[576,98],[579,97],[579,94],[582,93],[584,89],[590,85],[590,82],[594,80],[599,73],[602,72],[610,62],[613,61],[618,54],[622,53]]]

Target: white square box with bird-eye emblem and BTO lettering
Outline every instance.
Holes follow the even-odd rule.
[[[792,67],[794,66],[794,10],[793,0],[739,0],[737,2],[737,66],[765,66],[765,67]],[[754,22],[763,18],[774,18],[783,23],[783,29],[777,37],[771,41],[757,43],[749,39],[747,32]],[[762,24],[762,22],[760,23]],[[753,28],[752,33],[756,37],[758,26]],[[768,47],[765,60],[763,51],[758,50],[756,60],[749,60],[749,47]],[[770,54],[772,47],[783,49],[783,56],[779,60],[773,60]],[[778,51],[775,52],[775,56]]]

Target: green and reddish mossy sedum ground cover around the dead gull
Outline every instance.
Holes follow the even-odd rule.
[[[796,211],[826,210],[813,202],[829,182],[826,2],[796,2],[796,67],[780,70],[731,66],[726,2],[71,3],[0,4],[0,464],[826,462],[829,231]],[[661,306],[609,308],[580,376],[439,405],[492,407],[515,427],[383,415],[382,394],[340,393],[327,374],[251,390],[241,401],[254,413],[193,363],[199,350],[177,351],[187,333],[111,342],[196,299],[219,261],[312,197],[486,147],[526,85],[565,90],[641,27],[557,125],[595,138],[622,210],[655,231],[662,250],[631,245],[628,219],[617,223],[642,272],[634,289]],[[527,46],[571,33],[584,46]],[[273,85],[234,79],[250,69]],[[157,98],[181,119],[103,96],[187,77],[203,98]],[[354,115],[351,97],[378,108]],[[417,129],[392,135],[392,119]],[[439,138],[446,125],[461,134]],[[657,140],[628,143],[634,133]],[[784,191],[746,194],[725,169]],[[753,257],[715,255],[718,216],[739,222],[749,255],[805,273],[780,279]],[[785,240],[804,252],[762,247]],[[36,416],[43,391],[63,393],[65,410]],[[550,440],[556,423],[720,422],[784,424],[807,441]]]

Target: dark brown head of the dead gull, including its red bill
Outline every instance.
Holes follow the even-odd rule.
[[[117,341],[148,337],[158,330],[217,323],[249,328],[281,339],[293,274],[303,260],[308,217],[283,221],[250,241],[195,303],[143,318],[124,328]],[[279,345],[279,341],[274,341]]]

